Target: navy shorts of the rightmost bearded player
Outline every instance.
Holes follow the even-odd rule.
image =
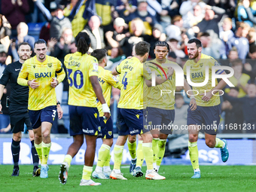
[[[221,120],[221,105],[212,107],[197,106],[195,111],[187,108],[187,125],[200,125],[201,130],[216,135]]]

